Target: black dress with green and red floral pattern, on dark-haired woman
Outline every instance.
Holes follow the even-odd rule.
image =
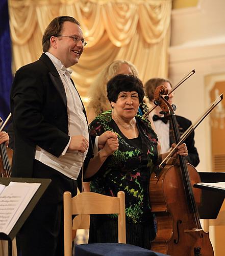
[[[128,139],[112,119],[112,111],[98,115],[90,124],[90,133],[99,136],[106,131],[118,135],[119,148],[92,176],[91,191],[116,197],[124,191],[126,199],[127,243],[151,247],[154,224],[149,204],[149,179],[158,159],[158,138],[151,123],[136,115],[138,138]],[[89,243],[118,242],[117,216],[91,216]]]

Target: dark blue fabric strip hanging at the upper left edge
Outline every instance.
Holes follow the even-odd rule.
[[[8,1],[0,0],[0,116],[4,121],[10,113],[11,60]]]

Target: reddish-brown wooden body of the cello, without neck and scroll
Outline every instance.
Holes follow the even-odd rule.
[[[187,164],[190,184],[200,182],[196,169]],[[201,189],[193,188],[196,206],[201,203]],[[172,256],[213,256],[209,233],[196,225],[196,213],[190,211],[178,165],[166,165],[158,177],[152,174],[149,185],[152,212],[157,233],[152,250]]]

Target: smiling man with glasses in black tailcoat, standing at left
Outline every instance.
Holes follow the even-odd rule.
[[[77,194],[83,158],[92,157],[86,112],[68,69],[85,45],[76,19],[54,18],[40,59],[21,67],[12,84],[12,177],[52,180],[16,237],[22,256],[64,255],[63,193]],[[102,147],[112,136],[105,133],[96,144]]]

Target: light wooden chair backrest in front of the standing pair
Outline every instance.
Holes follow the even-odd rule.
[[[88,222],[87,215],[118,214],[118,243],[126,243],[125,195],[123,191],[119,191],[117,197],[83,192],[73,198],[71,198],[71,193],[66,191],[63,200],[65,256],[71,256],[72,253],[72,215],[78,215],[73,225],[85,229]]]

